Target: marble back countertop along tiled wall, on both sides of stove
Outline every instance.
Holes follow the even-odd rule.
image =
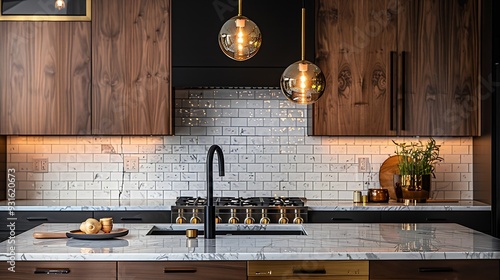
[[[169,200],[16,200],[16,211],[165,211],[175,199]],[[491,211],[491,205],[463,200],[405,205],[389,203],[353,203],[342,200],[307,200],[311,211]],[[7,201],[0,201],[0,211],[7,211]]]

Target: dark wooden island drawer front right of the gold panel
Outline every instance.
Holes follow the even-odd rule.
[[[370,279],[496,280],[498,260],[370,261]]]

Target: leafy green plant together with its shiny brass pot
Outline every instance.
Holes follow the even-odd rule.
[[[394,175],[394,188],[398,201],[410,199],[425,202],[430,195],[431,175],[434,176],[434,165],[443,160],[439,156],[440,145],[429,138],[422,141],[397,143],[399,174]]]

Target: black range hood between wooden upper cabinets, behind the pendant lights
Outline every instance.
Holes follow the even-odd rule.
[[[314,0],[306,0],[306,59],[314,62]],[[217,36],[238,14],[237,0],[172,0],[172,85],[177,88],[279,87],[281,74],[301,55],[300,0],[246,0],[242,14],[262,33],[262,47],[234,61]]]

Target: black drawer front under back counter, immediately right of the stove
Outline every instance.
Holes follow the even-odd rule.
[[[310,223],[379,223],[378,211],[309,211]]]

